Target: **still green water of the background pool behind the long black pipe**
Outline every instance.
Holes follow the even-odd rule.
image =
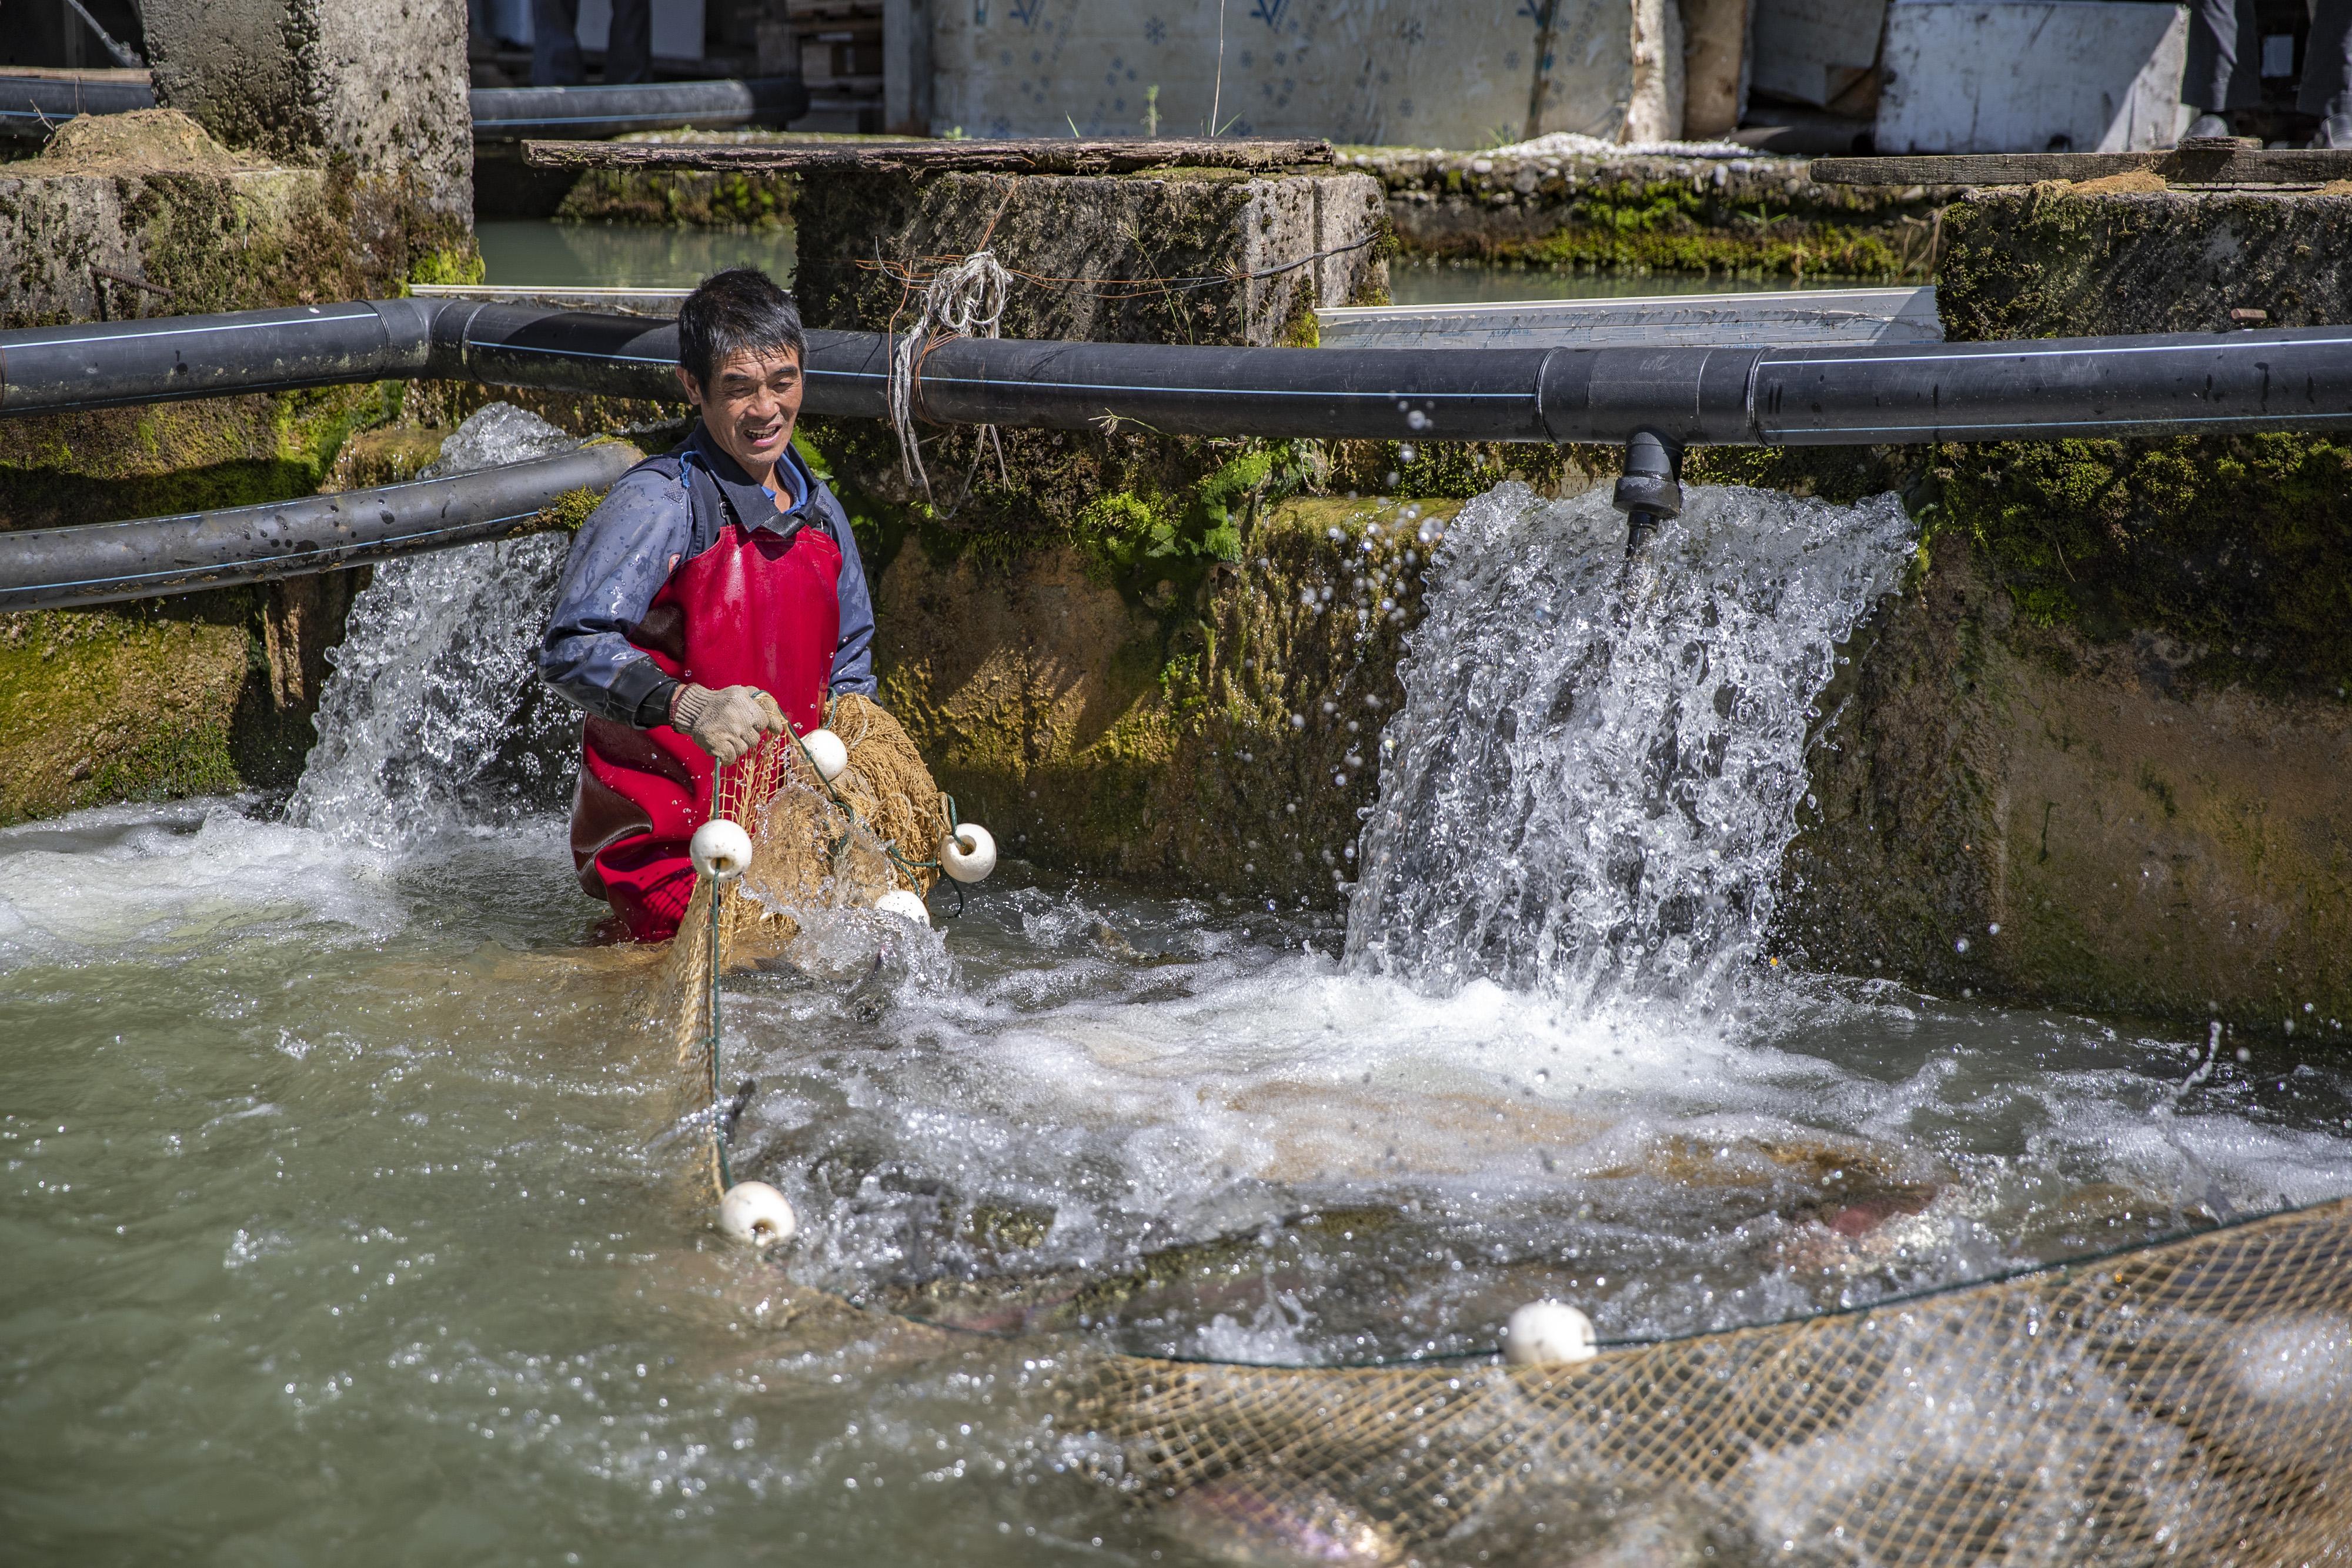
[[[543,219],[482,219],[482,282],[501,287],[628,287],[691,289],[727,266],[757,266],[779,280],[793,275],[793,226],[668,228],[654,223],[553,223]],[[1576,273],[1475,263],[1390,263],[1390,294],[1399,306],[1477,306],[1526,299],[1632,299],[1642,294],[1748,294],[1757,289],[1853,287],[1844,277],[1691,277],[1653,273]]]

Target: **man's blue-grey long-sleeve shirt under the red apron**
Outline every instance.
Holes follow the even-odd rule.
[[[774,529],[797,520],[833,536],[842,550],[842,632],[826,689],[873,696],[875,611],[849,515],[797,451],[786,449],[776,480],[781,496],[753,482],[701,425],[675,451],[621,475],[572,541],[539,644],[539,675],[600,719],[637,729],[666,724],[677,682],[628,632],[670,574],[717,543],[731,515],[746,527]]]

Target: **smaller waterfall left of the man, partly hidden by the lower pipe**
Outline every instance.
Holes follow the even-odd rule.
[[[503,402],[442,442],[423,477],[550,456],[579,442]],[[350,607],[287,816],[346,842],[412,846],[459,823],[557,804],[579,715],[539,684],[539,644],[569,538],[539,534],[376,567]]]

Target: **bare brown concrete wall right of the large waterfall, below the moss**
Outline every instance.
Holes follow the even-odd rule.
[[[1936,990],[2265,1032],[2352,1020],[2352,703],[2185,689],[2020,623],[1964,538],[1823,708],[1780,938]]]

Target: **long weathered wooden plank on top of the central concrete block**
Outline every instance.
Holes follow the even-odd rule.
[[[1279,169],[1331,162],[1329,141],[882,141],[844,146],[731,141],[524,141],[536,169],[739,169],[762,174],[1004,169],[1122,174],[1129,169]]]

